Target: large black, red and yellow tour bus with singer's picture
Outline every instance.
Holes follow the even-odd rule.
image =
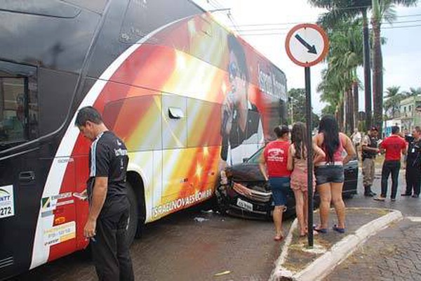
[[[192,1],[1,1],[0,26],[0,280],[88,244],[79,108],[128,148],[131,241],[286,122],[285,74]]]

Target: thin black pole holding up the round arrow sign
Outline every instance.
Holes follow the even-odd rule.
[[[309,247],[314,246],[313,237],[313,138],[312,138],[312,88],[310,82],[310,67],[305,67],[305,114],[307,122],[307,194],[308,194],[308,242]]]

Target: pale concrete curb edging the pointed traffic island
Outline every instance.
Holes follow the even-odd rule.
[[[378,208],[349,208],[349,209],[377,209]],[[384,209],[381,209],[384,210]],[[288,254],[288,247],[292,241],[292,234],[295,228],[297,228],[298,223],[297,219],[290,228],[288,237],[285,244],[283,244],[281,256],[276,261],[276,267],[272,270],[272,274],[269,277],[270,281],[278,280],[300,280],[300,281],[314,281],[321,280],[323,277],[326,277],[335,266],[338,266],[342,261],[345,261],[349,255],[351,255],[356,249],[361,246],[369,237],[377,234],[380,230],[387,228],[390,223],[398,221],[403,218],[401,211],[394,209],[389,209],[389,214],[376,218],[369,223],[366,223],[364,226],[361,226],[355,233],[347,235],[340,242],[333,245],[329,251],[326,251],[325,254],[320,256],[318,259],[313,261],[307,266],[304,270],[301,270],[299,273],[293,274],[292,272],[285,270],[282,267],[283,262],[286,259]]]

